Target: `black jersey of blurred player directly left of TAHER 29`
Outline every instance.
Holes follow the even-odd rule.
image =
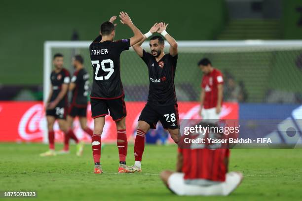
[[[71,82],[76,84],[76,87],[72,91],[71,104],[75,106],[87,106],[89,89],[89,74],[87,71],[84,68],[77,70]]]

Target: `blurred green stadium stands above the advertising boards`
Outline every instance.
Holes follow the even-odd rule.
[[[91,41],[98,34],[100,23],[121,10],[131,15],[143,33],[154,22],[169,23],[167,31],[177,40],[302,39],[301,0],[189,0],[186,3],[168,0],[161,2],[161,6],[171,9],[156,15],[144,13],[144,18],[141,8],[145,8],[145,3],[136,0],[129,2],[127,8],[121,0],[107,5],[102,2],[107,7],[102,13],[97,6],[91,7],[93,2],[75,0],[74,5],[80,3],[81,6],[71,8],[70,2],[56,1],[32,0],[18,4],[6,1],[1,4],[0,13],[12,17],[6,19],[0,32],[1,38],[5,38],[0,49],[0,100],[42,100],[44,41]],[[149,9],[156,10],[157,6],[150,4]],[[42,7],[48,9],[39,9]],[[81,15],[75,16],[75,13]],[[30,23],[18,20],[21,18]],[[116,38],[131,34],[125,26],[118,24]],[[71,72],[72,56],[75,53],[83,55],[85,67],[92,74],[87,49],[55,49],[52,53],[56,52],[64,54],[65,67]],[[302,48],[217,54],[180,52],[175,78],[178,100],[199,100],[202,73],[196,64],[203,57],[208,57],[213,66],[224,73],[224,101],[302,102]],[[146,101],[149,85],[148,72],[142,68],[144,63],[132,52],[122,54],[121,64],[126,100]]]

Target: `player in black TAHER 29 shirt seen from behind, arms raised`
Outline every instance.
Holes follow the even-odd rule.
[[[94,119],[92,135],[92,153],[94,159],[94,173],[102,173],[100,164],[101,134],[105,125],[105,116],[110,112],[116,123],[117,147],[119,153],[119,173],[128,172],[126,166],[127,135],[126,135],[126,106],[124,90],[120,79],[119,56],[122,51],[143,39],[143,34],[134,26],[127,13],[119,13],[120,22],[127,25],[134,33],[130,39],[113,41],[115,25],[113,16],[110,21],[101,25],[98,36],[89,47],[90,59],[94,77],[90,94],[91,113]]]

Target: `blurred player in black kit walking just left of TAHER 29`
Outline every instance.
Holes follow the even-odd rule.
[[[73,123],[76,116],[78,117],[82,130],[92,136],[93,131],[87,126],[87,96],[89,89],[89,74],[85,70],[84,59],[81,55],[76,55],[73,58],[73,66],[75,67],[74,75],[69,85],[69,91],[72,93],[72,99],[68,109],[67,122],[69,128],[73,129]],[[77,143],[76,155],[80,156],[83,152],[83,144]],[[66,135],[64,139],[64,148],[60,152],[62,154],[69,153],[69,136]]]

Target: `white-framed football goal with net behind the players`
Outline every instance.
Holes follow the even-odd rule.
[[[64,67],[71,74],[74,72],[72,57],[76,54],[82,55],[84,67],[90,78],[94,77],[88,51],[90,43],[91,41],[44,43],[44,101],[50,88],[49,77],[55,53],[64,55]],[[165,45],[167,53],[169,45],[166,41]],[[143,48],[150,51],[148,41],[144,42]],[[195,110],[202,77],[197,62],[204,57],[209,58],[212,65],[224,74],[224,101],[297,103],[302,100],[302,40],[178,41],[178,48],[175,75],[177,99],[180,102],[195,102]],[[132,48],[121,54],[120,63],[125,100],[128,103],[127,116],[135,113],[131,117],[135,121],[148,98],[148,69]],[[126,123],[129,124],[128,120]],[[92,124],[90,122],[90,126]],[[128,126],[136,126],[132,122],[130,124],[127,129]]]

